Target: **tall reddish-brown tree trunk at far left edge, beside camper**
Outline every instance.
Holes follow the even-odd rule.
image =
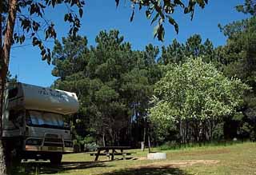
[[[10,61],[10,46],[12,45],[13,35],[14,35],[14,25],[16,19],[16,5],[17,0],[9,1],[8,18],[6,20],[6,33],[4,37],[3,47],[1,41],[1,52],[0,52],[0,174],[6,174],[6,158],[4,155],[4,147],[2,144],[2,109],[3,109],[3,99],[4,90],[6,85],[6,75],[8,71],[9,61]],[[2,26],[2,22],[1,22]],[[2,40],[2,33],[1,33]]]

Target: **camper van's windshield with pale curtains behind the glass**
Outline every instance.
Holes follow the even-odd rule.
[[[27,111],[26,125],[64,129],[64,121],[61,114],[34,110]]]

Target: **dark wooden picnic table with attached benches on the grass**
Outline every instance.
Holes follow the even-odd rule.
[[[126,155],[132,153],[126,153],[124,150],[131,149],[130,146],[101,146],[97,148],[97,153],[91,153],[91,156],[96,156],[94,161],[98,161],[99,156],[111,156],[111,161],[114,161],[114,155],[122,155],[122,159],[126,160]],[[112,152],[110,152],[112,150]],[[103,153],[101,153],[104,151]]]

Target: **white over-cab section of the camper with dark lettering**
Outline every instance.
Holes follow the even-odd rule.
[[[8,109],[23,108],[70,114],[78,111],[75,93],[18,83],[9,90]]]

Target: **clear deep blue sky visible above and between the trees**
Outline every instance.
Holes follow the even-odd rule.
[[[167,46],[174,38],[185,42],[192,34],[200,34],[203,41],[209,38],[214,46],[220,46],[225,44],[226,38],[218,29],[218,23],[225,25],[248,17],[234,9],[234,6],[242,4],[243,0],[210,0],[205,9],[196,9],[193,21],[190,21],[190,15],[182,14],[181,10],[176,11],[174,18],[179,24],[179,34],[175,33],[173,26],[167,25],[165,42],[158,42],[157,38],[153,37],[154,26],[150,26],[144,10],[136,11],[134,21],[130,22],[131,9],[128,2],[125,4],[124,0],[120,0],[120,5],[116,8],[114,0],[86,0],[81,20],[82,28],[78,34],[86,35],[89,45],[95,45],[94,38],[99,31],[117,29],[125,37],[125,41],[132,44],[134,50],[143,50],[149,43],[154,46]],[[68,31],[68,25],[63,22],[64,13],[64,6],[46,11],[47,18],[56,24],[58,39],[65,37]],[[48,42],[48,45],[52,47],[53,42]],[[52,69],[53,66],[42,62],[38,48],[30,45],[13,46],[10,72],[13,76],[18,76],[19,82],[50,86],[56,79],[51,75]]]

